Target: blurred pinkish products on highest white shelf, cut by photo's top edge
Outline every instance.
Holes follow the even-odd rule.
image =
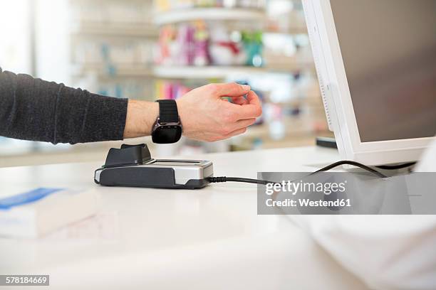
[[[156,11],[195,7],[262,9],[264,6],[264,0],[155,0]]]

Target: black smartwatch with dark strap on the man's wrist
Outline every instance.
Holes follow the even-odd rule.
[[[177,103],[175,100],[157,100],[159,103],[159,116],[152,127],[152,141],[158,144],[175,143],[182,136],[182,123],[180,122]]]

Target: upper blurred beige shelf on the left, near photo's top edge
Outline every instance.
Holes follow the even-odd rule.
[[[75,36],[130,36],[150,37],[158,35],[157,28],[152,23],[93,23],[81,22],[71,28]]]

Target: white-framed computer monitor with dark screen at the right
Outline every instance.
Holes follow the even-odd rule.
[[[416,161],[436,134],[436,0],[303,0],[342,159]]]

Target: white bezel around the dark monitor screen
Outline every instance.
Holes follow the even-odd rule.
[[[345,65],[339,45],[330,0],[303,0],[309,37],[319,37],[321,50],[313,49],[314,58],[323,63],[317,65],[318,76],[323,79],[326,106],[331,127],[338,143],[341,157],[368,165],[380,165],[416,161],[422,151],[436,137],[398,139],[387,141],[360,141],[354,114],[351,92],[348,87]],[[310,14],[307,15],[307,14]],[[313,39],[311,39],[313,46]],[[323,65],[324,68],[319,68]]]

